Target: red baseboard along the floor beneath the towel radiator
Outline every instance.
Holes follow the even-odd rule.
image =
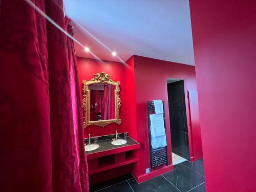
[[[170,170],[173,170],[174,169],[174,165],[173,164],[170,164],[168,166],[163,166],[159,169],[156,169],[156,170],[152,170],[150,173],[148,174],[143,174],[143,175],[140,175],[140,176],[137,176],[136,174],[132,173],[134,178],[136,179],[136,181],[138,183],[142,183],[144,181],[147,181],[149,179],[152,179],[154,177],[157,177],[161,174],[164,174],[166,172],[169,172]]]

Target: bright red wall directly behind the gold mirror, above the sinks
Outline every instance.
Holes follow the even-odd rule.
[[[95,73],[100,73],[104,71],[111,75],[111,79],[114,81],[120,81],[120,99],[121,99],[121,108],[120,108],[120,118],[122,120],[121,125],[116,123],[112,123],[105,127],[99,127],[90,125],[86,127],[84,130],[84,137],[88,137],[90,133],[92,137],[101,136],[101,135],[109,135],[115,134],[115,130],[118,133],[127,132],[128,131],[128,123],[127,123],[127,105],[125,104],[125,95],[126,95],[126,81],[125,81],[125,70],[126,67],[120,62],[112,62],[112,61],[98,61],[95,59],[82,58],[77,57],[77,70],[78,70],[78,78],[79,83],[82,87],[82,80],[90,80],[94,77]],[[81,91],[82,92],[82,91]]]

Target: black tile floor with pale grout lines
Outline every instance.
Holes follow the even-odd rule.
[[[185,161],[174,165],[174,170],[147,180],[141,184],[131,174],[118,177],[97,185],[90,186],[90,191],[99,192],[137,192],[137,191],[180,191],[204,192],[204,164],[203,160],[195,162]]]

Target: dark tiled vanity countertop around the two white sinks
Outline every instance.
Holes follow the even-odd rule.
[[[119,137],[119,139],[124,139],[124,137]],[[90,152],[86,152],[86,154],[88,155],[88,154],[103,152],[103,151],[107,151],[107,150],[113,150],[115,148],[120,148],[120,147],[130,146],[130,145],[134,145],[134,144],[139,144],[137,141],[135,141],[131,137],[126,137],[125,140],[127,142],[123,145],[113,145],[113,144],[111,144],[111,141],[113,141],[113,139],[105,139],[105,140],[97,141],[96,143],[99,144],[99,148],[97,148],[96,150],[90,151]],[[95,142],[91,142],[91,144],[93,144],[93,143],[95,143]]]

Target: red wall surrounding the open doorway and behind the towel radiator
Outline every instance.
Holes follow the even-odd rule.
[[[187,90],[197,90],[195,67],[181,65],[179,63],[168,62],[141,56],[133,56],[135,66],[135,93],[137,110],[137,135],[141,143],[138,152],[139,162],[137,176],[145,174],[145,169],[150,167],[149,141],[148,141],[148,121],[147,121],[147,101],[163,100],[165,103],[166,117],[166,137],[168,153],[172,153],[170,142],[170,125],[167,95],[167,78],[184,79],[184,89],[186,98],[186,112],[189,120]],[[189,126],[188,126],[189,127]],[[188,133],[190,130],[188,129]],[[168,157],[168,164],[172,164],[172,156]],[[136,175],[136,174],[135,174]],[[142,179],[143,180],[143,179]]]

